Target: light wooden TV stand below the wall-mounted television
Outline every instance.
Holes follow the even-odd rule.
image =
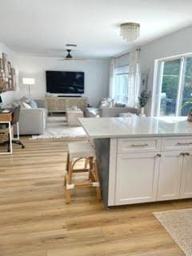
[[[67,108],[77,106],[83,112],[86,110],[87,98],[79,96],[46,95],[48,113],[66,112]]]

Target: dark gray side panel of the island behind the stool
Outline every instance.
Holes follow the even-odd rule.
[[[98,160],[98,174],[102,190],[102,202],[104,206],[108,206],[108,190],[109,190],[109,165],[110,165],[110,139],[95,138],[95,152]]]

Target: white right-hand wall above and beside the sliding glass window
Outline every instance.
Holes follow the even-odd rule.
[[[192,53],[192,26],[150,42],[146,46],[142,46],[141,49],[142,74],[149,74],[147,87],[148,90],[152,90],[155,59]],[[148,104],[148,114],[150,114],[150,106],[151,102]]]

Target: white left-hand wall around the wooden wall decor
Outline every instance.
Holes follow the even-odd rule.
[[[14,64],[14,53],[2,42],[0,42],[0,56],[2,58],[2,53],[7,54],[8,60],[14,68],[17,68]],[[7,91],[1,94],[3,104],[10,103],[16,97],[16,91]]]

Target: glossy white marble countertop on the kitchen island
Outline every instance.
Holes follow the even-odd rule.
[[[90,138],[192,136],[186,117],[78,118]]]

